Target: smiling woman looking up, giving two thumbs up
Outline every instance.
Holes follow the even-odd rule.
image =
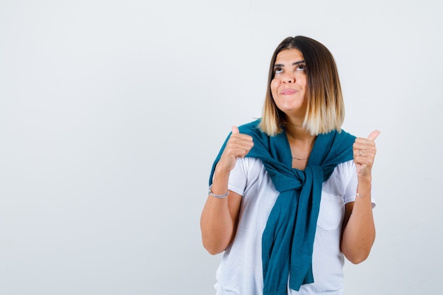
[[[375,238],[374,139],[341,129],[332,54],[287,37],[270,63],[260,120],[232,127],[214,161],[202,241],[222,253],[218,295],[343,294],[344,257],[365,260]]]

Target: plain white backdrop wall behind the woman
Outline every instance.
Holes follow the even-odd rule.
[[[209,169],[294,35],[333,53],[343,128],[381,130],[376,243],[346,294],[442,294],[442,7],[1,0],[0,294],[214,294]]]

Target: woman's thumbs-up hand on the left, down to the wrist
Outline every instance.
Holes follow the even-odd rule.
[[[232,127],[231,137],[226,142],[222,157],[217,164],[217,169],[226,172],[231,171],[236,166],[237,158],[243,158],[251,151],[253,139],[248,134],[241,134],[236,126]]]

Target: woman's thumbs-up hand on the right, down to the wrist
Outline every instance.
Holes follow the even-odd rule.
[[[374,140],[379,136],[380,132],[375,130],[369,134],[367,139],[357,137],[352,149],[354,151],[354,163],[357,167],[357,176],[367,178],[371,177],[372,164],[376,154]]]

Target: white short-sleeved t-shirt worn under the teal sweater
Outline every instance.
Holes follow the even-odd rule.
[[[229,190],[242,195],[238,227],[217,269],[217,295],[262,295],[261,238],[267,217],[280,194],[263,163],[238,158],[229,175]],[[323,183],[320,212],[313,245],[313,284],[288,294],[343,294],[343,253],[340,232],[345,204],[355,201],[357,173],[353,161],[340,163]]]

